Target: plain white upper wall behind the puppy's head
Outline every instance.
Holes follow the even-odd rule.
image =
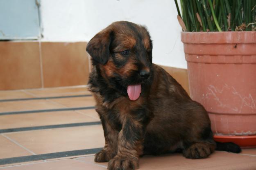
[[[89,41],[114,21],[145,25],[153,62],[187,68],[173,0],[41,0],[42,41]]]

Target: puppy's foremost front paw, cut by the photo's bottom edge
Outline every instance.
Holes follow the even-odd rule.
[[[135,170],[138,169],[138,160],[116,155],[109,161],[108,170]]]

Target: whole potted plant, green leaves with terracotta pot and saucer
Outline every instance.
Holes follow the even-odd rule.
[[[256,147],[256,0],[180,2],[191,98],[216,141]]]

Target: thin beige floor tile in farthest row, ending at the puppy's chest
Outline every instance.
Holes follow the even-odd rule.
[[[87,87],[59,87],[59,88],[45,88],[45,89],[29,89],[26,90],[37,97],[50,97],[50,96],[71,96],[91,94]]]

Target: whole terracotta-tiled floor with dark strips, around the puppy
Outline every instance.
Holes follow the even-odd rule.
[[[106,169],[107,163],[93,161],[104,135],[88,94],[85,86],[0,91],[0,170]],[[181,154],[144,156],[140,169],[256,170],[256,149],[216,151],[199,160]]]

